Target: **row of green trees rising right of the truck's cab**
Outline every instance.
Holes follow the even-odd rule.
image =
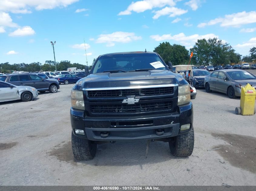
[[[252,59],[256,59],[256,47],[250,49],[250,55],[241,59],[242,55],[235,53],[230,44],[217,38],[197,40],[189,50],[185,46],[163,42],[155,47],[154,52],[157,52],[165,63],[171,61],[173,65],[188,64],[191,52],[193,65],[226,65],[241,61],[252,62]]]

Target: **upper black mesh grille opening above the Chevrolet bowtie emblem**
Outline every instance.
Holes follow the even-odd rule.
[[[88,97],[154,96],[173,94],[173,87],[88,91]]]

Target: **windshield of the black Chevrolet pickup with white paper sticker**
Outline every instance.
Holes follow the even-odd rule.
[[[92,73],[107,71],[134,72],[136,70],[167,70],[155,53],[111,54],[99,57]]]

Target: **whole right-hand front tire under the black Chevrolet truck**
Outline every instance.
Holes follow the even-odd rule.
[[[176,157],[188,157],[194,149],[194,129],[185,134],[172,137],[169,141],[171,154]]]

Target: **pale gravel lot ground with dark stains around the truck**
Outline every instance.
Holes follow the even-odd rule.
[[[146,159],[146,141],[136,141],[98,145],[94,160],[78,162],[71,150],[72,87],[0,103],[0,185],[256,185],[256,118],[235,115],[240,99],[198,90],[188,158],[151,142]],[[221,149],[207,151],[213,148]]]

